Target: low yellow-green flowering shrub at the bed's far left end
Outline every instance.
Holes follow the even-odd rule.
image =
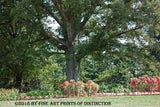
[[[1,89],[0,90],[0,100],[16,100],[19,95],[19,90],[12,89]]]

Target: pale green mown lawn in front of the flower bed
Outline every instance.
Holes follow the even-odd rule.
[[[19,103],[35,104],[36,105],[15,105]],[[57,102],[59,107],[160,107],[160,95],[147,96],[108,96],[108,97],[81,97],[81,98],[61,98],[61,99],[44,99],[44,100],[18,100],[18,101],[0,101],[2,107],[53,107]],[[70,102],[72,105],[64,105]],[[111,105],[84,105],[87,102],[111,102]],[[39,104],[42,105],[39,105]],[[51,105],[51,103],[53,105]],[[77,105],[77,104],[82,105]],[[68,103],[69,104],[69,103]],[[76,105],[74,105],[76,104]],[[88,103],[89,104],[89,103]],[[99,103],[100,104],[100,103]],[[102,103],[101,103],[102,104]],[[106,103],[107,104],[107,103]]]

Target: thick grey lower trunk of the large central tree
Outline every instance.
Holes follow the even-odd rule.
[[[66,76],[67,81],[74,79],[75,81],[81,80],[81,72],[80,72],[80,62],[81,60],[76,60],[71,56],[72,53],[70,51],[66,51]]]

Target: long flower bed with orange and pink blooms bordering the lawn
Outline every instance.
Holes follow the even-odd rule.
[[[35,100],[35,99],[53,99],[53,98],[72,98],[72,97],[89,97],[89,96],[118,96],[118,95],[150,95],[160,94],[160,78],[149,77],[148,75],[140,78],[131,79],[131,88],[128,91],[113,91],[112,93],[102,93],[100,86],[88,80],[83,81],[71,80],[65,81],[59,85],[60,90],[31,90],[20,93],[18,89],[0,89],[0,100]],[[119,89],[120,90],[120,89]],[[120,94],[121,93],[121,94]]]

